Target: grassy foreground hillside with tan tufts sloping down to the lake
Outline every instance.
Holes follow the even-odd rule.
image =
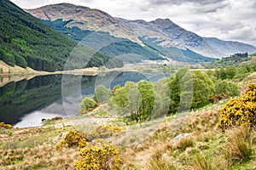
[[[255,169],[255,131],[216,127],[225,103],[139,124],[122,122],[107,104],[86,115],[46,120],[42,127],[8,128],[2,123],[0,169],[82,169],[82,156],[102,162],[106,153],[109,164],[116,157],[122,161],[113,169]],[[79,145],[81,138],[89,139],[85,146]],[[83,149],[90,152],[79,155]]]

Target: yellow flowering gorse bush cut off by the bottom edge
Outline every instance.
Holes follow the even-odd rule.
[[[79,156],[81,159],[75,162],[77,170],[118,169],[122,162],[118,148],[110,144],[84,147],[80,150]]]

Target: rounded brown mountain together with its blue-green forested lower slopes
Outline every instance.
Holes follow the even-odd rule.
[[[83,42],[90,48],[118,57],[124,62],[164,59],[162,56],[178,61],[212,60],[190,49],[179,49],[175,46],[166,53],[166,49],[157,48],[140,39],[137,32],[122,20],[116,20],[97,9],[60,3],[26,9],[26,11],[74,40],[79,42],[84,40]]]

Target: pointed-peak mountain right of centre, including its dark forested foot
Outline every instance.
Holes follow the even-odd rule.
[[[208,61],[212,59],[205,56],[212,57],[211,54],[216,54],[216,51],[212,50],[201,37],[193,32],[185,31],[171,20],[158,19],[150,22],[119,18],[117,20],[135,31],[144,44],[157,49],[161,54],[171,59],[189,62]],[[198,53],[198,51],[205,52],[207,49],[211,52],[210,54]]]

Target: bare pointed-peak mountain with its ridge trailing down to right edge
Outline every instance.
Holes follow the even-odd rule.
[[[194,32],[186,31],[172,20],[157,19],[124,20],[116,18],[135,31],[144,43],[154,44],[154,48],[189,49],[197,54],[212,58],[221,58],[235,53],[253,53],[256,48],[241,42],[228,42],[217,38],[200,37]],[[169,50],[170,51],[170,50]],[[171,50],[172,51],[172,50]]]

